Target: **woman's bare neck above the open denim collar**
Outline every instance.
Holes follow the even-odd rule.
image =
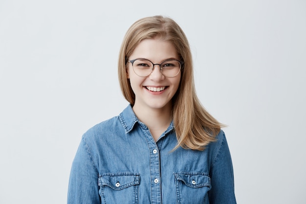
[[[141,109],[136,104],[133,111],[138,119],[150,130],[155,141],[164,133],[172,121],[172,105],[166,105],[161,109]]]

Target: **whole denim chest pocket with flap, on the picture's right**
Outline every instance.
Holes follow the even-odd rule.
[[[210,177],[206,173],[174,173],[177,204],[209,204]]]

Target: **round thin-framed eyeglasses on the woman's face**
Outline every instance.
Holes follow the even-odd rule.
[[[155,65],[159,65],[159,70],[164,76],[175,77],[184,65],[184,62],[179,60],[165,60],[161,64],[153,64],[153,62],[147,59],[134,59],[128,60],[128,62],[132,64],[135,74],[141,77],[149,76]]]

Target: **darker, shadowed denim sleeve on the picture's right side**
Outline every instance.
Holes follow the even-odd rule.
[[[211,189],[208,191],[210,204],[236,204],[234,192],[233,164],[223,131],[218,138],[217,151],[210,168]]]

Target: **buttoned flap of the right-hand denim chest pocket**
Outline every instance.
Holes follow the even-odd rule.
[[[203,186],[211,187],[210,177],[205,173],[199,172],[180,172],[174,173],[175,179],[183,181],[187,186],[198,188]]]

